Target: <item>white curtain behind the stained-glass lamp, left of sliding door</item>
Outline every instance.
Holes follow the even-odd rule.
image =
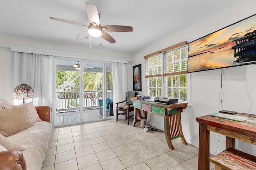
[[[52,106],[55,57],[14,52],[14,88],[28,84],[34,90],[34,106]]]

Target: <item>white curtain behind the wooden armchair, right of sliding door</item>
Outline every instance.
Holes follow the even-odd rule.
[[[113,63],[113,111],[116,119],[116,103],[126,100],[127,92],[127,64]],[[118,115],[118,119],[126,119],[124,115]]]

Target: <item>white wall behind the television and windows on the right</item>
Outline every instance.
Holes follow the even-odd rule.
[[[221,4],[220,4],[221,5]],[[146,94],[145,61],[144,56],[159,51],[182,41],[194,41],[204,35],[208,35],[218,29],[226,27],[236,21],[255,14],[256,1],[241,0],[241,2],[218,14],[206,18],[179,32],[166,35],[166,38],[141,49],[132,55],[134,62],[128,64],[128,80],[132,80],[132,66],[142,64],[142,91]],[[174,23],[175,24],[175,23]],[[237,66],[223,69],[222,103],[223,109],[234,110],[242,113],[256,114],[256,65]],[[196,117],[216,113],[222,109],[220,103],[220,70],[208,70],[191,73],[191,100],[189,107],[182,113],[182,129],[188,143],[198,146],[199,125]],[[132,90],[132,81],[128,81],[128,90]],[[163,117],[149,114],[148,122],[159,129],[164,128]],[[210,133],[210,152],[215,153],[225,149],[225,137],[217,133]],[[236,147],[256,155],[256,147],[251,144],[236,140]]]

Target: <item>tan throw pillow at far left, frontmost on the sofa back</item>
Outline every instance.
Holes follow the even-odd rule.
[[[27,105],[0,110],[0,133],[4,137],[18,133],[32,126]]]

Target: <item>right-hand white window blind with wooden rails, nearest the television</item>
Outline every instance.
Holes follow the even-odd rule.
[[[164,57],[163,76],[174,76],[187,74],[188,66],[188,46],[187,42],[182,42],[166,49],[162,49]]]

